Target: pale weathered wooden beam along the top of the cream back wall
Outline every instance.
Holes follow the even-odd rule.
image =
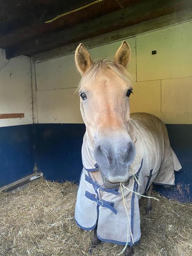
[[[161,29],[162,27],[168,27],[191,19],[192,8],[187,8],[185,10],[173,12],[153,20],[142,22],[140,24],[132,25],[130,27],[125,27],[123,29],[118,29],[106,34],[98,35],[96,37],[91,37],[85,40],[81,40],[79,42],[51,49],[49,51],[34,54],[32,56],[33,62],[40,62],[47,59],[71,54],[76,50],[76,47],[80,42],[86,45],[86,48],[89,49],[98,45],[108,44],[110,42],[126,39],[148,31]]]

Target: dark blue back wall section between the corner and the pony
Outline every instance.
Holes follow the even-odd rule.
[[[79,181],[84,124],[39,124],[40,170],[48,180]]]

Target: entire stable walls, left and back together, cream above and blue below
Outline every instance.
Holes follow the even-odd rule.
[[[163,192],[183,201],[190,200],[192,184],[190,31],[192,21],[126,39],[132,50],[128,67],[134,91],[130,97],[131,112],[152,113],[166,123],[170,143],[184,170],[176,174],[175,190]],[[89,52],[93,59],[113,60],[121,42],[93,47]],[[154,50],[157,54],[152,55]],[[6,63],[3,57],[3,65]],[[44,172],[46,179],[78,181],[85,126],[75,92],[80,76],[74,53],[31,64],[29,57],[19,56],[11,59],[2,71],[0,79],[6,81],[1,82],[4,84],[4,93],[0,96],[4,101],[3,111],[22,112],[25,118],[0,120],[2,126],[11,125],[0,128],[1,167],[5,174],[0,185],[32,173],[34,165]],[[15,71],[17,76],[12,81]]]

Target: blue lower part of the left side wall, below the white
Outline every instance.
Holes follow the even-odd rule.
[[[0,187],[32,174],[38,162],[35,130],[34,125],[0,128]]]

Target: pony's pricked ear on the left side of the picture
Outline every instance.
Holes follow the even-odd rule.
[[[75,51],[75,63],[78,71],[83,75],[89,67],[93,64],[89,52],[85,49],[83,44],[79,44]]]

